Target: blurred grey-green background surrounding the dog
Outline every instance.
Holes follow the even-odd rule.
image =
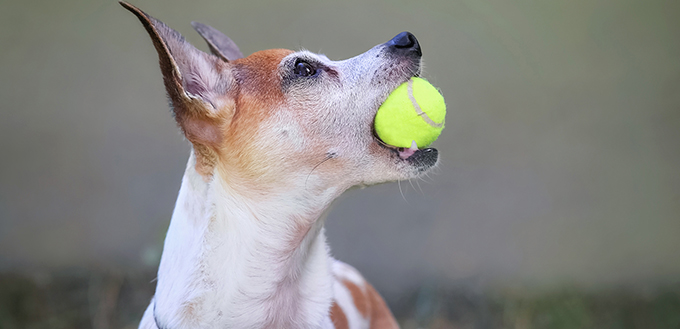
[[[161,1],[207,50],[357,55],[401,31],[441,166],[327,221],[404,328],[680,328],[680,2]],[[0,6],[0,328],[134,328],[189,154],[115,1]]]

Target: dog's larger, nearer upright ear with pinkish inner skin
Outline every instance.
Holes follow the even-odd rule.
[[[197,161],[214,163],[215,150],[224,137],[221,127],[234,111],[230,64],[196,49],[177,31],[137,7],[124,1],[120,4],[139,18],[151,36],[175,119],[194,144]]]

